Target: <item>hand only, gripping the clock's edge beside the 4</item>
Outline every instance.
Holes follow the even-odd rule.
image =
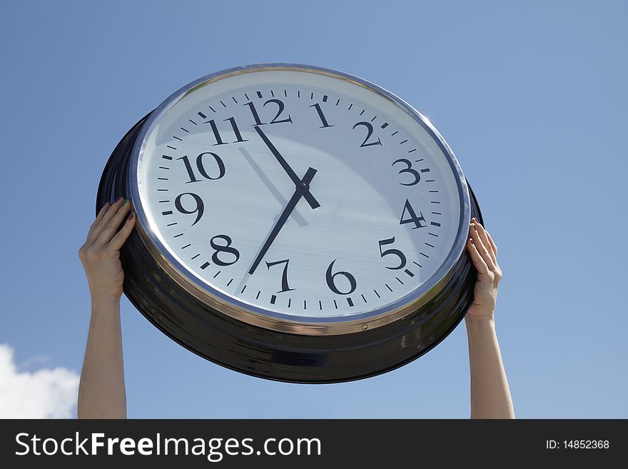
[[[473,290],[475,298],[465,319],[467,321],[492,319],[502,270],[497,263],[497,246],[476,218],[471,219],[467,250],[477,270],[477,281]]]

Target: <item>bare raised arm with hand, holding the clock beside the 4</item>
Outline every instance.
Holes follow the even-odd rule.
[[[495,302],[502,271],[497,246],[475,218],[467,249],[477,269],[475,299],[465,316],[471,368],[471,418],[515,418],[495,333]]]

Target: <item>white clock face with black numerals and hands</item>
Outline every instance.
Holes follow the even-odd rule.
[[[171,100],[133,176],[136,209],[179,270],[258,315],[384,314],[460,231],[460,182],[424,126],[310,71],[234,74]]]

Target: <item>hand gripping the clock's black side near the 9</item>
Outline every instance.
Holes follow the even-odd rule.
[[[78,250],[89,284],[92,300],[122,296],[124,272],[120,262],[120,248],[131,234],[136,217],[131,203],[120,197],[113,204],[106,203],[87,233],[85,244]],[[122,221],[126,222],[116,233]]]

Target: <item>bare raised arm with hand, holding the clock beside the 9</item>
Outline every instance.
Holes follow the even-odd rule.
[[[126,418],[120,248],[135,225],[133,213],[128,215],[130,205],[123,199],[107,203],[78,251],[91,293],[91,321],[78,386],[78,418]]]

